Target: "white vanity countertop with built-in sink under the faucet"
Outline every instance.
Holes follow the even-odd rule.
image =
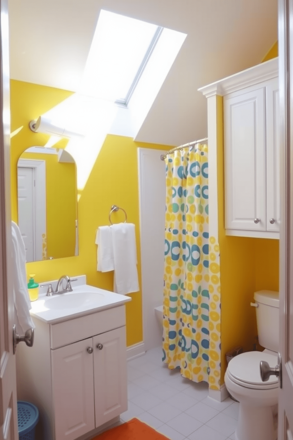
[[[47,297],[46,293],[41,292],[39,298],[31,303],[30,314],[46,323],[54,324],[131,301],[131,298],[126,295],[119,295],[119,293],[87,284],[77,286],[74,284],[72,282],[72,292],[68,293]]]

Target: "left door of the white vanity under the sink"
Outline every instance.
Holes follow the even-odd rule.
[[[55,439],[73,440],[94,429],[92,338],[51,350]]]

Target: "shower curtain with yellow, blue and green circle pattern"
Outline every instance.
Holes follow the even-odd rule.
[[[208,147],[167,155],[163,361],[220,389],[219,245],[209,237]]]

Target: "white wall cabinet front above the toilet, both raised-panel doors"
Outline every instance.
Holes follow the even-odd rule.
[[[278,77],[224,95],[223,105],[226,234],[279,238]]]

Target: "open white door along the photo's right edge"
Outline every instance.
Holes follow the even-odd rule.
[[[293,3],[279,0],[281,146],[279,440],[293,439]]]

